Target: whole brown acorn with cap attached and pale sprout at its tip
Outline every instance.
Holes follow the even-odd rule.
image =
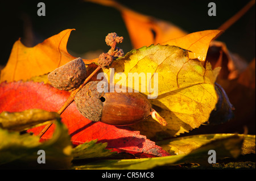
[[[97,85],[98,81],[91,81],[75,96],[77,109],[87,119],[112,125],[130,125],[151,115],[160,124],[166,125],[166,121],[139,92],[98,92]]]

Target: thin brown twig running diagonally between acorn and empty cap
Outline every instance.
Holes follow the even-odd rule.
[[[82,87],[84,87],[84,85],[90,80],[90,78],[93,77],[94,74],[97,73],[98,70],[100,70],[101,67],[98,66],[86,79],[85,81],[79,86],[79,88],[73,90],[71,92],[71,94],[69,95],[68,99],[66,100],[66,102],[63,104],[63,106],[60,108],[59,111],[57,111],[57,113],[59,113],[61,115],[61,113],[63,113],[65,111],[65,109],[73,102],[73,100],[75,99],[75,96],[77,94],[77,92],[79,92]],[[46,131],[49,129],[49,127],[51,127],[52,123],[47,124],[42,131],[38,134],[38,137],[42,137],[44,133],[46,133]]]

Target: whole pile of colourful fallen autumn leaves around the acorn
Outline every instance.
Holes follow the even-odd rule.
[[[218,160],[255,154],[255,135],[215,131],[183,136],[206,124],[218,124],[218,131],[226,131],[230,124],[251,123],[255,59],[247,65],[224,43],[213,41],[221,30],[187,33],[115,1],[93,2],[121,12],[134,47],[110,66],[114,75],[158,73],[158,80],[151,77],[152,85],[158,81],[157,96],[148,100],[167,126],[151,117],[126,126],[93,122],[81,115],[75,102],[59,115],[71,92],[51,86],[47,75],[77,58],[66,48],[74,29],[32,48],[18,40],[0,77],[0,168],[23,163],[28,169],[153,169],[183,163],[209,167],[209,150],[218,153]],[[97,68],[97,58],[83,61],[88,77]],[[110,77],[110,69],[100,72]],[[130,86],[129,79],[123,83],[151,95],[142,91],[142,82],[138,87]],[[40,139],[37,135],[48,123],[54,124]],[[48,153],[47,164],[36,162],[38,150]]]

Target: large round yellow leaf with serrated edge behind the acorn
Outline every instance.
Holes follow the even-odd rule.
[[[124,82],[128,87],[129,73],[158,73],[158,91],[154,92],[157,98],[148,100],[166,119],[167,127],[152,120],[131,125],[149,138],[158,134],[163,138],[189,132],[208,121],[210,112],[216,106],[218,98],[214,82],[220,69],[212,70],[210,64],[204,68],[199,60],[189,59],[187,50],[179,47],[151,45],[134,49],[113,62],[112,68],[115,75],[123,73],[128,77]],[[110,69],[104,69],[104,73],[105,78],[110,77]],[[156,80],[152,78],[150,81],[154,85]],[[118,85],[119,79],[114,79],[114,83]],[[136,88],[135,85],[139,86]],[[139,81],[130,86],[140,92],[142,87],[143,83]],[[142,93],[150,95],[148,90]]]

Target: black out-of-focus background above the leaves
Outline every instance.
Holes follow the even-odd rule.
[[[46,5],[46,16],[38,16],[39,2]],[[123,5],[167,20],[187,32],[217,29],[242,9],[249,1],[118,1]],[[208,3],[215,2],[217,16],[208,16]],[[71,32],[67,49],[70,54],[104,50],[105,36],[117,32],[124,37],[121,48],[132,49],[125,23],[118,10],[112,7],[82,1],[4,1],[1,13],[1,61],[5,65],[16,40],[32,47],[57,33],[75,28]],[[32,31],[32,33],[30,33]],[[250,62],[255,57],[255,5],[217,40],[226,43],[231,52]],[[96,57],[95,57],[96,58]]]

